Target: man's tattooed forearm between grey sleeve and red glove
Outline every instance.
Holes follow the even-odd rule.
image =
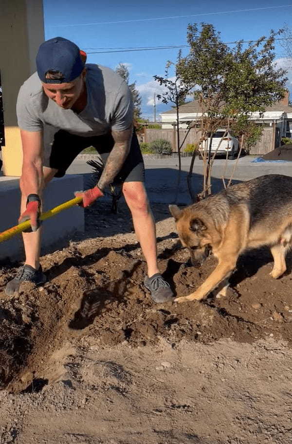
[[[97,184],[98,188],[102,191],[107,185],[113,182],[113,179],[121,170],[130,151],[132,133],[132,127],[125,131],[112,131],[112,137],[115,143]]]

